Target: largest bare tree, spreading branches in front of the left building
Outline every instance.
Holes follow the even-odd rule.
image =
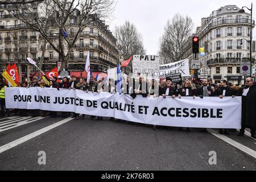
[[[114,6],[114,0],[52,0],[16,5],[14,15],[32,30],[38,31],[59,53],[63,69],[68,68],[68,57],[82,31],[96,20],[108,18]]]

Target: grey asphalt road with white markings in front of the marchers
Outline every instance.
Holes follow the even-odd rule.
[[[256,170],[256,140],[236,132],[154,131],[86,118],[0,118],[0,170]],[[46,165],[38,164],[39,151]]]

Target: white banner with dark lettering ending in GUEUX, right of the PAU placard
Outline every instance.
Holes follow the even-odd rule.
[[[177,61],[175,63],[160,65],[160,71],[159,73],[155,73],[155,75],[168,76],[176,73],[181,73],[182,77],[190,76],[188,59]]]

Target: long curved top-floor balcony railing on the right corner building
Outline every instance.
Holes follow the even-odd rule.
[[[216,26],[220,26],[222,24],[237,24],[237,23],[247,23],[250,25],[251,23],[251,19],[249,18],[244,18],[244,19],[224,19],[224,20],[219,20],[219,21],[214,21],[214,22],[211,22],[209,24],[207,24],[207,26],[204,27],[204,30],[201,31],[201,33],[199,34],[199,37],[201,38],[202,35],[205,34],[205,32],[208,32],[208,30],[210,30],[211,28],[213,27],[216,27]],[[255,24],[255,20],[253,20],[253,24]]]

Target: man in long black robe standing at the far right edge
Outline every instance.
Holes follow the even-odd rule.
[[[251,129],[251,137],[256,138],[256,86],[253,78],[246,78],[246,86],[240,90],[242,93],[242,129],[238,136],[245,134],[245,128]]]

